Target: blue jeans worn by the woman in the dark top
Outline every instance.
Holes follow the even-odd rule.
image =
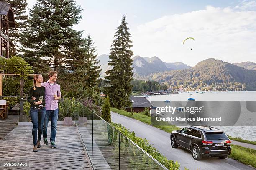
[[[34,143],[34,146],[36,146],[37,142],[40,142],[42,132],[43,132],[45,107],[41,109],[30,107],[30,117],[33,124],[33,128],[32,128],[33,143]],[[37,129],[38,129],[38,137],[36,140]]]

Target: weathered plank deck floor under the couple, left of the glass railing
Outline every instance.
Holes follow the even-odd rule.
[[[0,170],[90,170],[75,126],[58,125],[55,141],[57,148],[43,145],[41,138],[42,147],[38,148],[37,153],[33,153],[31,130],[32,126],[19,125],[0,140]],[[27,166],[3,166],[3,163],[15,162],[27,163]]]

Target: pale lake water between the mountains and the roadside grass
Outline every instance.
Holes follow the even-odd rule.
[[[256,101],[256,91],[239,91],[239,92],[182,92],[172,95],[152,95],[146,97],[151,101],[184,101],[189,97],[195,98],[196,101]],[[255,113],[256,114],[256,113]],[[256,120],[255,120],[256,121]],[[256,123],[255,126],[215,126],[224,130],[227,135],[240,137],[246,140],[256,140]],[[249,135],[248,135],[249,134]]]

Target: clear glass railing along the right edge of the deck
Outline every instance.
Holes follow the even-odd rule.
[[[74,117],[93,169],[168,170],[87,107]]]

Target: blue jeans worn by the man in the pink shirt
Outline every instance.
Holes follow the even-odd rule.
[[[59,109],[46,110],[46,115],[44,118],[44,128],[43,128],[43,138],[47,138],[47,126],[49,118],[51,118],[51,138],[50,142],[55,141],[56,131],[57,131],[57,120],[58,120]]]

